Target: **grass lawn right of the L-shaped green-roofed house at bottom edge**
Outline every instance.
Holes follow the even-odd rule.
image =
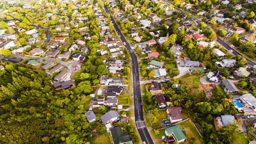
[[[182,122],[178,124],[181,129],[184,129],[185,132],[183,132],[190,143],[196,143],[201,144],[201,137],[199,133],[196,131],[196,127],[192,124],[191,120],[187,120],[185,122]]]

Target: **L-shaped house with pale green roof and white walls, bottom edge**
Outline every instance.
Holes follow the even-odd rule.
[[[184,133],[181,131],[178,125],[166,128],[165,134],[168,137],[172,136],[177,142],[183,142],[186,140]]]

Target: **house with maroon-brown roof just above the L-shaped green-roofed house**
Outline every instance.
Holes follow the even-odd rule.
[[[182,110],[181,106],[170,107],[166,109],[168,118],[171,123],[182,121],[183,116],[181,114],[181,110]]]

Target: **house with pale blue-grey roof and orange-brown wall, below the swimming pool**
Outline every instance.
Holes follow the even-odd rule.
[[[227,126],[229,123],[234,123],[235,117],[232,115],[221,115],[215,118],[214,125],[216,130]]]

